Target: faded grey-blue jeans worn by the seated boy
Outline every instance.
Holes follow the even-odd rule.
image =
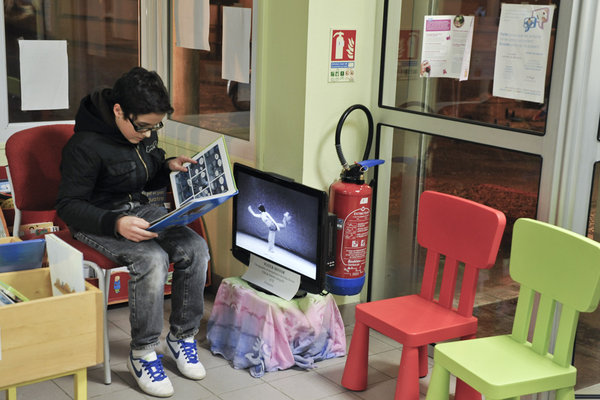
[[[143,205],[128,214],[151,221],[165,212],[163,208]],[[166,229],[157,238],[139,243],[85,232],[77,232],[75,238],[129,269],[132,350],[152,350],[160,344],[169,263],[173,263],[171,335],[177,339],[196,335],[204,311],[204,284],[210,259],[204,238],[187,226]]]

